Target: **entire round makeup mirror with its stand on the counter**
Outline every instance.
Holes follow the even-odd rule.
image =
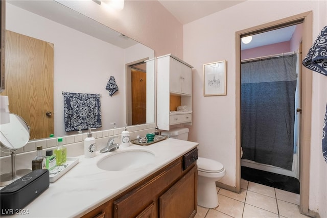
[[[9,114],[10,122],[0,124],[0,150],[11,153],[11,173],[2,174],[0,186],[6,186],[31,172],[31,169],[16,170],[15,151],[24,147],[30,139],[30,129],[23,118],[17,114]]]

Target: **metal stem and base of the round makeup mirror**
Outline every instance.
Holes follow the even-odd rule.
[[[32,172],[31,169],[18,169],[16,171],[16,153],[11,152],[11,173],[5,173],[0,176],[0,186],[6,186],[15,180]]]

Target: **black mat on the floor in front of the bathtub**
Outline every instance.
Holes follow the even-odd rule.
[[[300,193],[300,182],[294,177],[261,171],[260,169],[253,169],[246,166],[241,166],[241,177],[250,182],[267,185],[297,194]]]

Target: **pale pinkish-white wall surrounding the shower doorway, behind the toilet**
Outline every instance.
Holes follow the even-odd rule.
[[[220,181],[236,186],[235,32],[299,13],[313,11],[313,38],[326,25],[326,1],[246,1],[184,25],[184,61],[193,71],[193,125],[189,139],[199,142],[201,156],[220,161],[227,174]],[[205,63],[227,60],[227,95],[203,96]],[[309,209],[327,216],[327,164],[322,160],[322,121],[327,77],[313,73]]]

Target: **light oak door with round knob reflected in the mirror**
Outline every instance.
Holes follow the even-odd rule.
[[[53,44],[6,31],[6,90],[1,94],[8,95],[10,112],[26,120],[30,139],[54,133],[53,70]]]

